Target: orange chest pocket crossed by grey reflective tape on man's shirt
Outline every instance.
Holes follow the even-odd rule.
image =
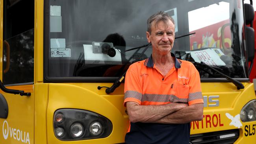
[[[189,85],[174,82],[172,84],[171,102],[188,102]]]

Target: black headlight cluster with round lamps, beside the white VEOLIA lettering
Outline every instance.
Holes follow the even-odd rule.
[[[83,140],[108,137],[110,120],[80,109],[59,109],[54,113],[54,134],[59,140]]]

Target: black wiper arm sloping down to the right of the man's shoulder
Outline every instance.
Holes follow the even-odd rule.
[[[236,79],[230,78],[230,77],[227,76],[226,74],[223,74],[223,73],[220,72],[219,70],[216,70],[216,69],[213,68],[212,66],[207,65],[206,63],[204,63],[204,62],[202,62],[202,61],[201,61],[200,63],[198,63],[198,62],[191,62],[191,63],[193,63],[195,66],[197,66],[197,65],[204,65],[204,66],[207,66],[207,67],[210,68],[211,70],[214,70],[215,72],[221,74],[221,76],[223,76],[224,78],[226,78],[228,81],[234,83],[234,85],[236,85],[236,87],[237,87],[237,90],[239,90],[239,89],[244,89],[244,88],[245,88],[245,86],[243,86],[243,84],[240,83],[239,81],[237,81]]]

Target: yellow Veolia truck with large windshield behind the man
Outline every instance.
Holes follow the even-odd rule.
[[[251,4],[0,0],[0,143],[124,143],[125,72],[150,56],[147,18],[165,11],[172,52],[200,73],[204,118],[191,122],[190,143],[255,144]]]

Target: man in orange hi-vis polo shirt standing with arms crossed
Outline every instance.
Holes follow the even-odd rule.
[[[158,12],[148,18],[152,55],[126,73],[124,106],[130,128],[127,144],[188,144],[190,122],[202,120],[200,76],[195,66],[176,59],[174,20]]]

